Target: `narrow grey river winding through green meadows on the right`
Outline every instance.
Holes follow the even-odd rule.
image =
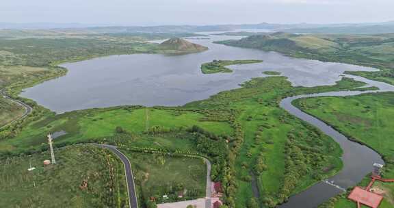
[[[394,86],[391,86],[387,83],[372,81],[363,77],[356,77],[352,75],[346,75],[346,77],[350,77],[358,81],[364,81],[365,83],[368,83],[369,86],[376,86],[380,89],[374,92],[394,91]],[[317,127],[318,129],[326,133],[326,135],[329,135],[331,138],[333,138],[335,142],[337,142],[343,149],[343,169],[338,174],[336,174],[334,177],[331,177],[330,179],[321,181],[320,183],[309,187],[308,190],[297,194],[296,196],[291,197],[289,202],[280,206],[281,208],[317,207],[319,204],[328,200],[330,197],[345,191],[347,187],[352,187],[356,185],[356,183],[361,181],[363,177],[365,177],[365,175],[369,174],[372,171],[372,165],[374,163],[384,164],[382,157],[380,157],[380,155],[373,151],[371,148],[348,140],[345,135],[339,133],[326,123],[309,114],[302,112],[300,109],[292,105],[292,102],[296,99],[311,98],[317,96],[352,96],[363,93],[367,92],[343,91],[325,92],[319,94],[303,94],[288,97],[280,102],[280,107],[286,109],[287,112],[293,114],[293,116],[296,116],[301,120],[304,120],[305,122],[308,122],[309,124]]]

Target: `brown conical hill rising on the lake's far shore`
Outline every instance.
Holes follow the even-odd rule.
[[[159,45],[159,48],[166,51],[174,51],[174,53],[196,53],[208,50],[207,47],[183,40],[182,38],[166,40]]]

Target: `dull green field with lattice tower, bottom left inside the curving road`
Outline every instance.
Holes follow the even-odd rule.
[[[127,207],[124,169],[116,156],[93,146],[55,150],[0,161],[0,207]],[[29,172],[29,164],[36,170]],[[86,180],[88,187],[79,186]],[[34,183],[36,187],[34,187]]]

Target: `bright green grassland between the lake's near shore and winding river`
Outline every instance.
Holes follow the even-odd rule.
[[[15,137],[3,139],[0,152],[12,155],[40,151],[47,146],[42,144],[47,132],[66,131],[66,135],[55,139],[56,145],[115,142],[124,148],[202,154],[213,162],[211,177],[222,181],[226,204],[246,205],[252,196],[250,172],[254,172],[261,188],[261,203],[274,207],[342,166],[339,146],[287,114],[278,102],[294,94],[345,90],[364,84],[344,78],[336,86],[302,88],[292,87],[286,77],[261,77],[244,83],[242,88],[183,107],[124,106],[60,115],[47,112]],[[187,133],[194,125],[204,129],[205,137]],[[289,180],[294,178],[298,180]]]

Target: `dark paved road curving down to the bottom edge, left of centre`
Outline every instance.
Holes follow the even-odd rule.
[[[118,155],[120,160],[122,160],[124,165],[124,170],[126,172],[127,192],[129,192],[129,205],[130,208],[138,208],[137,194],[135,194],[133,170],[131,170],[131,164],[129,159],[125,155],[123,155],[123,153],[118,151],[116,146],[111,146],[107,144],[96,144],[96,145],[109,149],[110,151]]]

